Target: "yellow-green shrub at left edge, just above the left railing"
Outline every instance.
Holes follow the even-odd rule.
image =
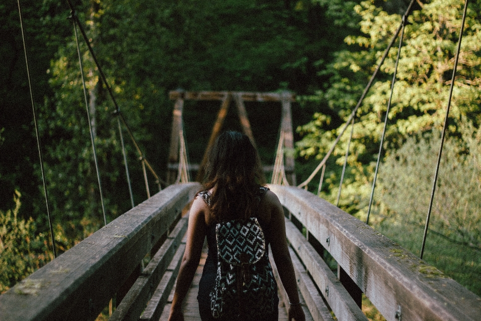
[[[20,193],[14,198],[15,208],[0,211],[0,293],[52,260],[47,235],[37,234],[32,218],[18,217]]]

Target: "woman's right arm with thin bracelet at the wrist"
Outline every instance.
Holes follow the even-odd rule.
[[[282,285],[287,292],[289,302],[289,321],[305,321],[306,316],[300,304],[299,292],[297,290],[296,274],[292,264],[291,254],[287,244],[286,223],[284,221],[284,210],[278,197],[271,191],[266,194],[266,201],[271,212],[269,224],[269,235],[271,240],[271,251],[276,263]]]

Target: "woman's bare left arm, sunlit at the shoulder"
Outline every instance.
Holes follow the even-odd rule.
[[[190,208],[189,223],[187,227],[187,243],[180,263],[179,274],[175,285],[174,297],[170,308],[169,321],[183,320],[182,302],[194,278],[195,270],[199,265],[202,246],[206,234],[205,211],[207,205],[196,197]]]

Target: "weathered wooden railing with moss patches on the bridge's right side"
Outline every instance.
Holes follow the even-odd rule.
[[[362,293],[388,321],[481,319],[481,298],[370,226],[302,189],[269,187],[291,217],[291,255],[314,320],[332,320],[321,295],[338,320],[367,320]],[[323,251],[337,262],[337,275]]]

